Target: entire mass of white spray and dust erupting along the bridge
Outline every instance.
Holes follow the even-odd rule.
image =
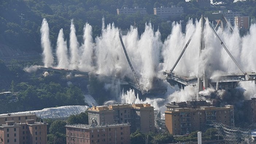
[[[151,89],[153,86],[152,81],[155,77],[163,79],[158,72],[171,69],[194,31],[195,34],[174,71],[184,76],[198,75],[198,71],[202,70],[202,65],[199,64],[198,57],[201,35],[200,25],[201,22],[198,22],[198,20],[195,20],[195,23],[193,23],[193,20],[189,20],[184,34],[182,33],[181,24],[173,23],[170,35],[163,43],[160,40],[160,32],[155,32],[151,23],[145,24],[145,31],[141,36],[139,36],[137,28],[132,26],[128,30],[128,34],[122,36],[129,59],[139,77],[143,89]],[[107,24],[105,27],[104,18],[102,18],[102,33],[95,39],[95,43],[93,43],[92,26],[86,23],[84,26],[84,42],[81,44],[81,50],[79,50],[75,27],[73,20],[71,20],[70,65],[68,64],[69,62],[65,62],[60,68],[68,67],[69,69],[78,69],[81,71],[96,71],[97,74],[129,79],[129,81],[134,82],[134,75],[125,58],[119,40],[119,31],[114,23]],[[45,19],[42,22],[41,33],[44,65],[51,66],[53,64],[53,57],[49,40],[49,27]],[[249,33],[244,37],[239,35],[238,29],[236,28],[233,32],[219,29],[217,33],[244,70],[256,70],[256,65],[253,65],[254,53],[256,52],[255,24],[251,25]],[[210,29],[208,20],[206,20],[203,35],[205,50],[202,51],[200,58],[203,60],[202,64],[206,67],[208,76],[217,78],[217,75],[222,72],[238,72],[237,66],[221,46],[220,40],[217,39]],[[61,42],[62,44],[57,44],[57,51],[59,50],[59,45],[65,47],[63,37],[59,36],[60,39],[58,38],[58,43]],[[61,64],[60,59],[62,58],[64,60],[67,55],[66,48],[63,47],[60,50],[64,51],[57,52],[59,65]],[[162,51],[160,53],[161,49]],[[163,63],[159,62],[160,57],[163,57]],[[240,86],[251,86],[254,88],[255,84],[240,84]],[[167,89],[168,92],[165,102],[194,100],[194,96],[196,96],[196,89],[191,86],[181,90],[179,90],[178,86],[168,86]],[[252,96],[253,92],[249,93],[249,90],[246,90],[245,95],[248,95],[246,97],[254,97]],[[123,93],[122,96],[124,95],[128,97],[128,100],[123,100],[124,102],[145,102],[136,97],[132,90]],[[148,99],[148,101],[154,102],[155,100]]]

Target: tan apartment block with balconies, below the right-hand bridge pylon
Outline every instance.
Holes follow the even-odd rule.
[[[196,103],[196,102],[195,102]],[[211,122],[221,122],[234,126],[233,105],[225,107],[191,106],[172,107],[166,105],[165,125],[168,132],[173,135],[185,135],[194,131],[203,131]]]

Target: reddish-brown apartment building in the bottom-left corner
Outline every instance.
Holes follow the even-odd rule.
[[[8,120],[0,124],[0,144],[46,144],[47,124],[35,122],[29,117],[34,114],[1,116],[0,119]],[[6,119],[5,119],[6,118]],[[26,119],[27,118],[27,119]]]

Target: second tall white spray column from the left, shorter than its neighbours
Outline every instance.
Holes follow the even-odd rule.
[[[59,30],[56,55],[58,59],[57,67],[67,69],[69,66],[69,59],[67,57],[67,42],[64,40],[63,29]]]

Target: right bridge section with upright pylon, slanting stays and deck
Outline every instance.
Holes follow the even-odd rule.
[[[226,20],[224,16],[222,16],[222,20]],[[205,44],[203,40],[203,30],[204,30],[204,25],[206,22],[206,17],[203,15],[201,16],[201,39],[200,39],[200,47],[199,47],[199,57],[202,55],[202,51],[205,49]],[[228,21],[226,20],[226,23]],[[217,23],[218,26],[219,22]],[[231,24],[229,24],[230,29],[233,31],[233,28]],[[233,62],[236,64],[238,69],[240,70],[239,73],[220,73],[218,75],[215,75],[214,77],[209,77],[209,74],[205,73],[206,71],[206,66],[203,66],[203,69],[198,69],[198,75],[194,75],[191,77],[185,77],[181,76],[177,73],[174,73],[174,69],[177,66],[179,60],[181,59],[182,55],[184,54],[186,48],[189,46],[189,43],[194,35],[193,34],[190,36],[190,39],[186,43],[185,47],[183,48],[181,54],[179,55],[177,61],[174,63],[174,66],[172,66],[170,71],[165,71],[163,72],[164,75],[166,76],[166,79],[170,83],[178,83],[182,86],[197,86],[198,88],[198,93],[202,90],[205,90],[207,87],[214,87],[216,90],[218,89],[227,89],[227,88],[234,88],[235,85],[237,85],[238,82],[241,81],[255,81],[256,79],[256,73],[255,72],[245,72],[243,69],[241,69],[241,66],[238,64],[236,59],[232,56],[232,54],[229,52],[228,48],[226,47],[226,44],[221,40],[220,36],[218,36],[216,32],[216,28],[213,28],[211,24],[209,24],[211,30],[213,31],[214,35],[220,40],[220,44],[222,47],[225,49],[225,51],[228,53],[229,57],[233,60]],[[223,28],[223,27],[222,27]],[[199,59],[199,66],[202,66],[202,61]],[[198,66],[198,67],[199,67]],[[202,75],[199,75],[199,73],[202,73]],[[235,84],[235,85],[232,85]],[[228,85],[228,86],[225,86]],[[198,93],[197,93],[197,100],[198,100]]]

